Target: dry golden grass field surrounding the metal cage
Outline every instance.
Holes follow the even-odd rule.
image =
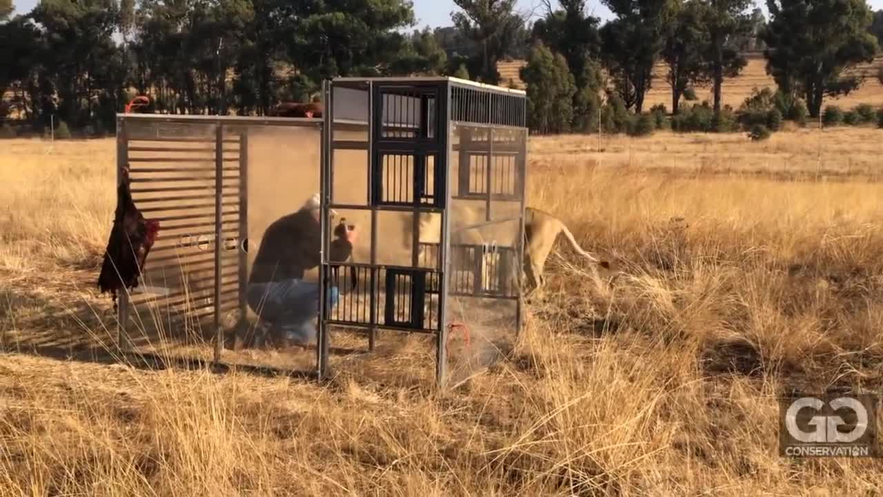
[[[883,384],[883,184],[836,161],[877,133],[826,136],[838,181],[757,172],[815,173],[811,134],[532,140],[530,203],[624,272],[550,257],[509,360],[448,393],[398,335],[322,385],[104,361],[114,143],[5,141],[0,493],[879,494],[879,461],[776,452],[777,395]]]

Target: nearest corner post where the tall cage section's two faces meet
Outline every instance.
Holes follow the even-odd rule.
[[[439,285],[439,329],[436,335],[436,343],[435,343],[435,383],[439,388],[444,388],[447,386],[448,380],[448,318],[445,314],[445,310],[447,309],[447,301],[448,301],[448,273],[449,273],[449,249],[450,249],[450,190],[451,190],[451,174],[449,168],[449,157],[451,155],[450,149],[450,136],[453,133],[453,128],[451,126],[450,120],[450,103],[451,103],[451,85],[450,83],[445,83],[445,99],[442,105],[442,102],[439,102],[439,112],[445,117],[445,135],[440,137],[442,143],[440,145],[441,153],[439,154],[438,162],[436,163],[437,167],[442,168],[444,172],[444,181],[442,182],[442,195],[444,198],[444,203],[442,207],[442,239],[440,244],[440,249],[442,250],[442,267],[441,271],[441,284]],[[440,99],[441,100],[441,99]],[[462,144],[461,144],[462,147]],[[461,164],[462,167],[462,164]]]

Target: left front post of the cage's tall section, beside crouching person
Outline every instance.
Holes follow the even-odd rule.
[[[321,256],[319,258],[319,316],[316,325],[316,378],[322,379],[328,370],[328,328],[326,319],[328,317],[328,203],[330,203],[330,194],[328,185],[333,183],[334,179],[331,166],[331,127],[334,122],[334,102],[331,92],[332,83],[328,80],[322,81],[322,99],[325,107],[325,113],[322,118],[321,126],[321,159],[319,166],[319,226],[321,229]]]

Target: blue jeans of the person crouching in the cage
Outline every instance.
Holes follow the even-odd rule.
[[[260,319],[270,325],[270,333],[282,334],[302,345],[315,339],[319,316],[317,283],[301,279],[253,283],[248,286],[245,297]],[[334,307],[338,299],[337,288],[329,288],[328,308]]]

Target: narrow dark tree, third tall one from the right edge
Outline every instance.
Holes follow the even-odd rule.
[[[680,6],[668,27],[662,60],[668,66],[666,81],[671,87],[671,108],[677,113],[681,96],[692,85],[706,83],[708,70],[703,50],[709,36],[703,22],[705,10],[698,0]]]

